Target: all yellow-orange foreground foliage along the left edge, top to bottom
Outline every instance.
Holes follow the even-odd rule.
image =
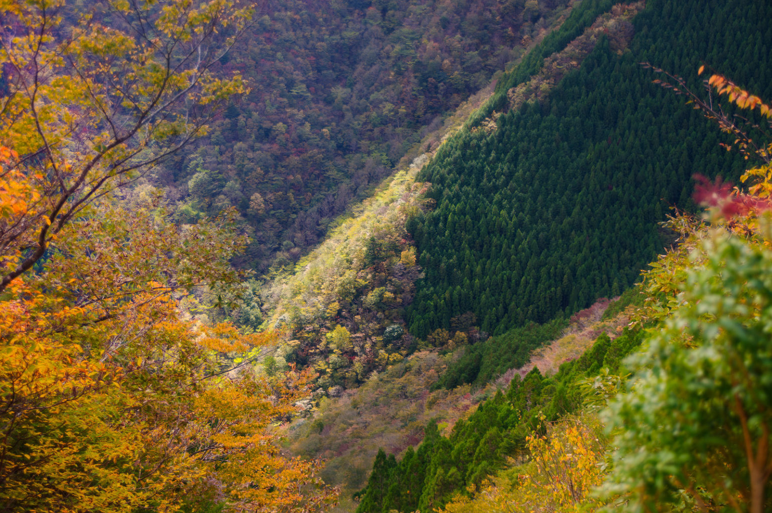
[[[242,278],[232,213],[178,226],[162,194],[120,188],[242,90],[199,50],[248,12],[116,2],[107,27],[63,6],[0,2],[0,510],[321,508],[320,463],[274,428],[310,376],[257,376],[272,332],[184,308]]]

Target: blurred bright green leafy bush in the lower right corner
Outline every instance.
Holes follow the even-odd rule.
[[[699,249],[708,257],[687,271],[681,304],[611,407],[619,450],[610,488],[648,511],[682,494],[703,511],[769,511],[772,251],[721,231]]]

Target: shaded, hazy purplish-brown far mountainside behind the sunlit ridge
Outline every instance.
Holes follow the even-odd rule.
[[[441,116],[538,40],[566,0],[259,2],[229,56],[251,87],[157,173],[190,222],[234,205],[236,260],[295,262]]]

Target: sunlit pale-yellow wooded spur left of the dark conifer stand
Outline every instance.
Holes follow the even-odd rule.
[[[336,394],[417,349],[403,320],[422,272],[405,230],[408,216],[427,206],[425,184],[416,184],[415,175],[492,92],[489,86],[459,106],[394,177],[340,218],[323,244],[269,284],[268,324],[289,332],[272,369],[316,366],[322,391]]]

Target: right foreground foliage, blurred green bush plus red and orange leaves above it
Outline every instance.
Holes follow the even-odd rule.
[[[756,96],[725,89],[723,77],[709,83],[772,117]],[[696,197],[710,207],[710,228],[675,219],[686,244],[648,272],[663,325],[609,408],[618,451],[607,491],[628,511],[772,509],[772,147],[763,148],[763,164],[743,177],[754,194],[705,181]]]

